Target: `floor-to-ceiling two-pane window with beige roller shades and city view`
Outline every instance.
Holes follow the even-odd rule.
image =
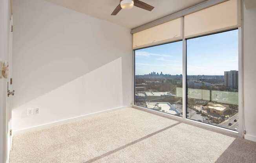
[[[243,134],[240,4],[214,2],[133,29],[134,105]]]

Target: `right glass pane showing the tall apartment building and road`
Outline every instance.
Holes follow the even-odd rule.
[[[187,40],[187,118],[238,131],[238,30]]]

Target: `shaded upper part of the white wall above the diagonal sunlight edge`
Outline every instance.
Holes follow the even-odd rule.
[[[131,73],[129,29],[43,0],[13,0],[13,12],[13,108],[118,58],[121,71]]]

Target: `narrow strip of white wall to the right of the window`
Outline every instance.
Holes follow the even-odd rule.
[[[245,138],[256,141],[256,5],[247,8],[243,8]]]

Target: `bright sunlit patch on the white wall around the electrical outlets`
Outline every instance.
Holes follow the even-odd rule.
[[[118,58],[42,96],[13,108],[13,130],[123,106],[122,58]],[[129,93],[126,91],[126,95]],[[27,115],[28,108],[40,114]]]

